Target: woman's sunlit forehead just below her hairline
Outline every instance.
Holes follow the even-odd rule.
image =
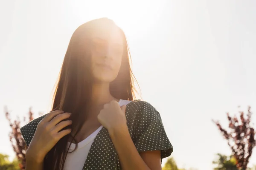
[[[91,34],[94,43],[123,45],[121,30],[117,26],[97,28]]]

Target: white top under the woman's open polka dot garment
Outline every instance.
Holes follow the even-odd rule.
[[[119,105],[127,105],[131,101],[128,100],[119,100]],[[92,134],[90,134],[86,139],[82,140],[77,144],[77,148],[73,151],[76,147],[76,144],[71,143],[70,150],[73,151],[67,154],[66,161],[64,163],[64,170],[81,170],[84,167],[84,162],[86,161],[87,155],[89,153],[90,147],[93,144],[93,140],[102,129],[100,126],[97,130],[95,130]],[[69,146],[70,142],[68,142]]]

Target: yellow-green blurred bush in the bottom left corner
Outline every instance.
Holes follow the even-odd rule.
[[[10,162],[8,158],[8,155],[3,155],[0,153],[0,170],[20,170],[17,159]]]

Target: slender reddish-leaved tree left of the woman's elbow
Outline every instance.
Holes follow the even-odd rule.
[[[20,162],[20,170],[25,170],[26,160],[25,160],[25,154],[26,154],[26,148],[25,148],[25,141],[20,133],[20,119],[17,117],[17,120],[13,121],[10,118],[10,113],[5,108],[6,113],[6,119],[9,121],[9,125],[11,127],[11,132],[9,133],[9,140],[12,144],[12,148],[16,154],[16,157],[18,161]],[[32,121],[33,113],[31,111],[31,108],[29,109],[29,122]],[[26,117],[24,116],[23,119],[24,122],[26,122]]]

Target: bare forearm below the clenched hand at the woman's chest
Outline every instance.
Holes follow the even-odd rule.
[[[150,170],[137,151],[126,125],[108,131],[119,156],[122,170]]]

